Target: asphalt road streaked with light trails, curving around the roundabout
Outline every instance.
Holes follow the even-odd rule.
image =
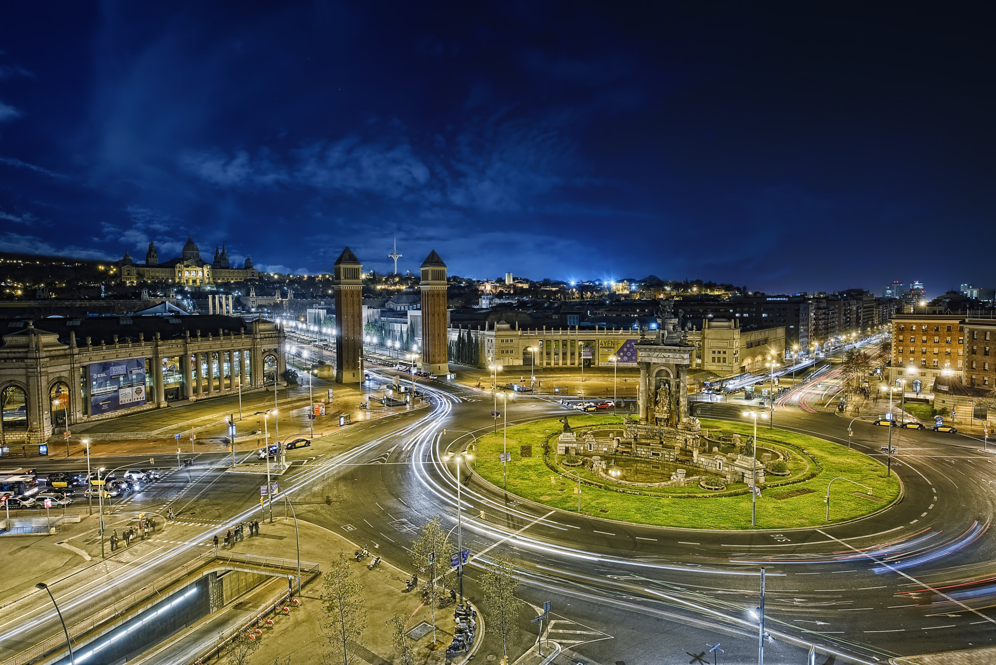
[[[456,430],[491,430],[492,400],[452,384],[426,390],[431,410],[361,424],[290,453],[293,466],[277,482],[298,517],[367,543],[401,567],[406,545],[426,519],[440,514],[455,524],[455,470],[441,455],[469,443]],[[529,397],[507,408],[509,424],[565,413],[551,401]],[[742,409],[728,404],[701,409],[706,417],[742,418]],[[789,409],[776,413],[775,424],[848,445],[849,421]],[[882,458],[879,446],[887,431],[861,421],[853,428],[851,445]],[[993,602],[991,592],[978,580],[992,577],[996,568],[985,531],[993,513],[992,459],[978,451],[978,442],[957,435],[893,430],[892,443],[899,449],[892,469],[904,484],[903,498],[847,524],[750,532],[622,524],[551,511],[472,477],[462,491],[464,546],[475,557],[500,550],[515,556],[522,597],[534,605],[552,600],[555,620],[564,622],[551,626],[551,637],[583,638],[570,645],[574,656],[562,658],[684,663],[719,641],[725,651],[719,662],[756,662],[757,622],[750,610],[759,604],[761,566],[767,571],[766,627],[775,639],[766,647],[769,659],[804,662],[811,644],[822,654],[817,662],[869,663],[991,644],[996,613],[985,608]],[[138,510],[164,512],[171,504],[178,518],[170,542],[141,561],[108,568],[100,584],[109,601],[188,559],[193,543],[208,541],[233,519],[260,517],[259,476],[224,473],[229,460],[223,454],[183,457],[194,457],[196,466],[174,471],[110,508],[112,518],[126,519]],[[39,469],[79,464],[50,460]],[[142,467],[147,458],[95,458],[93,464]],[[132,574],[135,564],[143,566],[140,575]],[[471,565],[471,594],[475,574]],[[966,581],[972,583],[947,588]],[[93,611],[74,600],[79,598],[79,589],[68,585],[68,621]],[[17,610],[0,623],[4,650],[51,630],[44,605]],[[531,611],[521,619],[519,648],[530,643],[536,628],[528,623]],[[4,639],[15,632],[16,639]]]

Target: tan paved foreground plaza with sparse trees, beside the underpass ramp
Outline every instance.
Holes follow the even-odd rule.
[[[300,532],[301,560],[319,563],[323,570],[328,569],[330,560],[343,551],[351,557],[359,545],[350,542],[340,534],[308,521],[298,520]],[[232,550],[247,554],[275,556],[294,560],[297,556],[295,541],[295,522],[291,518],[278,517],[273,523],[260,522],[260,535],[247,537],[235,544]],[[221,554],[227,549],[219,550]],[[376,556],[372,550],[371,555]],[[410,573],[402,571],[387,561],[380,562],[373,570],[368,568],[372,558],[363,562],[351,562],[355,567],[357,578],[363,584],[363,596],[367,602],[367,629],[362,642],[364,646],[357,650],[360,656],[370,665],[387,665],[401,662],[398,653],[391,643],[391,629],[386,621],[395,612],[407,618],[407,629],[427,623],[431,625],[431,609],[421,602],[419,590],[404,591],[404,582]],[[423,582],[419,582],[419,589]],[[300,663],[320,663],[320,651],[330,648],[322,636],[320,620],[322,613],[322,580],[316,579],[304,587],[298,596],[300,607],[291,609],[287,616],[274,619],[272,628],[263,628],[260,636],[260,648],[253,655],[253,662],[270,663],[279,659],[284,662],[290,659],[292,665]],[[252,603],[235,602],[238,608]],[[246,607],[242,615],[246,620],[252,619],[258,613],[258,607]],[[432,630],[426,631],[418,639],[413,640],[413,663],[419,665],[443,665],[446,646],[453,636],[452,605],[436,609],[436,641],[433,643]],[[205,621],[210,621],[206,617]],[[196,627],[195,627],[196,628]],[[191,629],[193,630],[193,628]],[[203,632],[203,631],[202,631]],[[206,634],[206,633],[205,633]],[[177,639],[181,639],[178,636]],[[480,614],[477,619],[477,635],[475,647],[484,640],[484,620]],[[473,653],[473,651],[471,651]],[[468,654],[459,654],[453,663],[465,660]]]

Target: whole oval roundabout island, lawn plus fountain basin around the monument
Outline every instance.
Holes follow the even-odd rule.
[[[622,417],[584,414],[569,416],[579,440],[586,433],[605,435],[612,426],[622,426]],[[703,420],[710,440],[747,442],[751,425]],[[751,528],[750,490],[742,482],[731,482],[721,471],[677,469],[688,467],[682,460],[671,462],[637,458],[630,451],[613,449],[599,455],[557,455],[557,440],[563,431],[558,419],[545,419],[508,428],[508,491],[524,499],[564,510],[578,509],[578,476],[581,478],[581,510],[586,514],[658,526],[708,529]],[[735,436],[738,435],[738,436]],[[718,443],[718,441],[716,442]],[[732,449],[704,453],[730,463],[737,459]],[[474,471],[489,483],[502,487],[503,435],[487,434],[478,439]],[[743,453],[743,447],[736,449]],[[723,455],[724,451],[727,453]],[[754,528],[785,529],[821,526],[846,521],[885,507],[900,494],[893,474],[867,455],[823,439],[786,432],[758,430],[758,460],[766,457],[767,475],[757,499]],[[596,457],[597,456],[597,457]],[[740,457],[742,464],[743,457]],[[726,468],[727,471],[729,467]],[[683,481],[678,472],[687,474]],[[677,474],[677,475],[676,475]],[[830,521],[826,517],[827,485],[831,490]],[[628,480],[626,480],[628,479]],[[677,479],[677,482],[675,482]]]

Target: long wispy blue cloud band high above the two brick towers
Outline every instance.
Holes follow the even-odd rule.
[[[574,146],[559,129],[564,122],[510,120],[499,114],[468,123],[451,141],[440,140],[432,149],[416,149],[404,136],[365,141],[354,135],[314,142],[284,158],[270,150],[255,157],[244,150],[212,150],[187,153],[180,165],[222,188],[305,187],[323,194],[404,201],[422,209],[519,211],[536,196],[580,184],[574,179]]]

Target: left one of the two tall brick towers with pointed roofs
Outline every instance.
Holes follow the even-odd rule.
[[[364,380],[363,264],[347,247],[333,264],[336,291],[336,383]]]

